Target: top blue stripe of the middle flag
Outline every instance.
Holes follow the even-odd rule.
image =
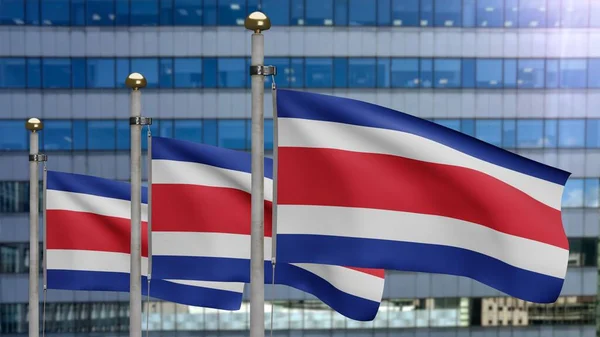
[[[152,138],[152,159],[184,161],[252,172],[250,152],[163,137]],[[273,179],[273,160],[265,158],[265,177]]]

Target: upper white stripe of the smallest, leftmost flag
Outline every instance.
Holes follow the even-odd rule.
[[[47,210],[86,212],[115,218],[131,218],[131,202],[93,194],[47,190]],[[148,220],[148,205],[142,204],[142,221]]]

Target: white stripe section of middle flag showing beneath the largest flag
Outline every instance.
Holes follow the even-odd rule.
[[[385,279],[346,267],[325,264],[292,263],[305,269],[345,293],[381,302]]]

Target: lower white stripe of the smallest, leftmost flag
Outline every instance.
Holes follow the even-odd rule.
[[[126,253],[90,250],[48,249],[48,270],[78,270],[129,274],[130,257]],[[142,257],[142,276],[148,275],[148,258]],[[244,283],[165,280],[194,287],[244,292]]]

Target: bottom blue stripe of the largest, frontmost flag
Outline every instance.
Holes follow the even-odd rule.
[[[555,302],[564,282],[484,254],[441,245],[296,234],[278,234],[277,242],[277,258],[281,262],[465,276],[531,302]]]

